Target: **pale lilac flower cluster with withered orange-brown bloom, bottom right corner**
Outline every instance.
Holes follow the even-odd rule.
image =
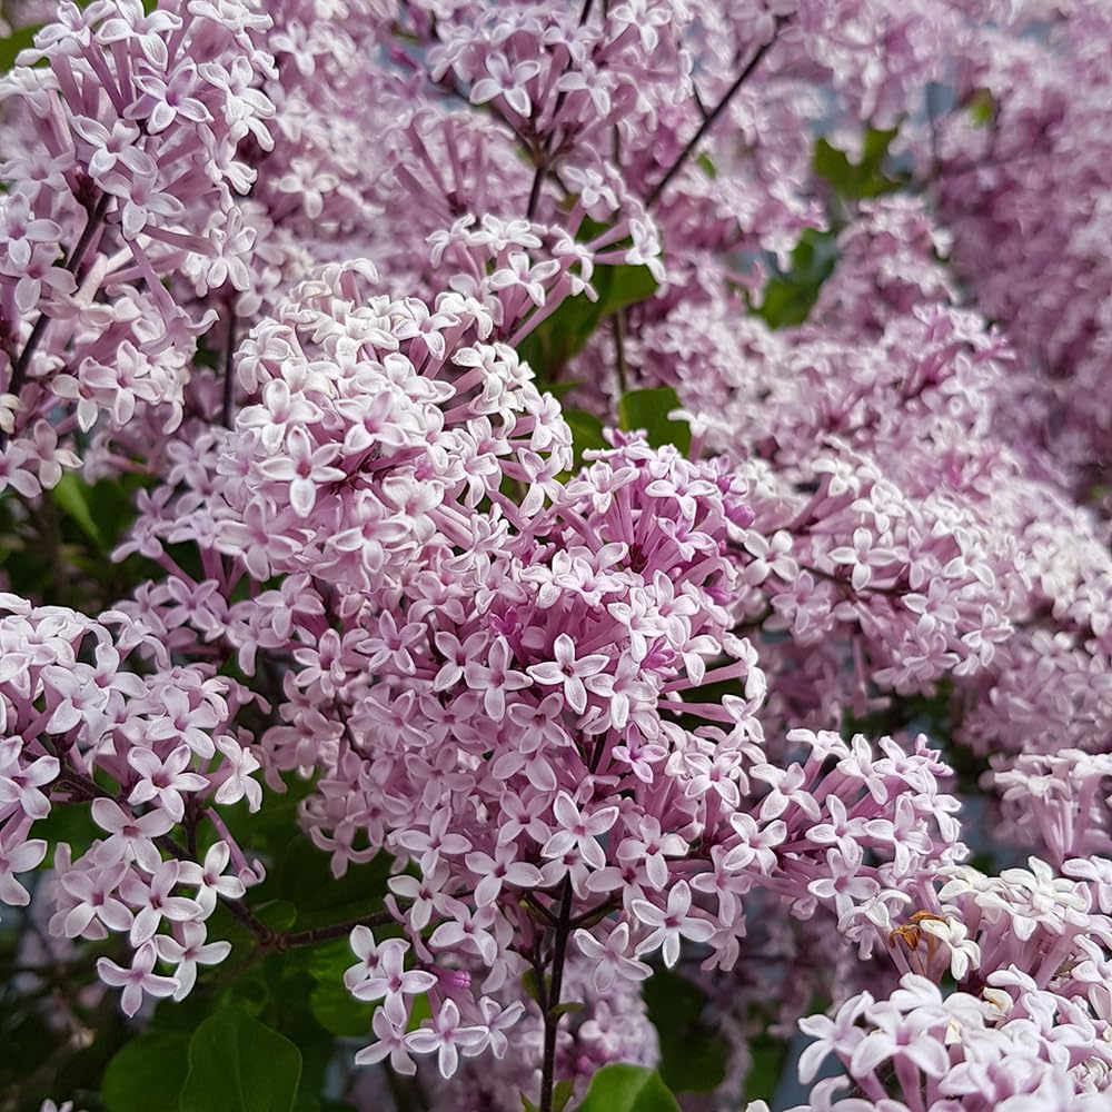
[[[810,1083],[832,1053],[846,1073],[822,1082],[813,1101],[820,1089],[828,1099],[853,1084],[867,1108],[1103,1106],[1112,921],[1085,883],[1037,858],[1030,865],[999,877],[943,870],[927,910],[890,935],[893,956],[909,969],[900,987],[887,999],[863,992],[833,1017],[801,1021],[814,1039],[801,1080]],[[944,973],[959,991],[940,991]],[[885,1074],[903,1103],[888,1098]]]

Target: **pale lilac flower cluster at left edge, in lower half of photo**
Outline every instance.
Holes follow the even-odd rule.
[[[75,856],[64,842],[53,846],[49,931],[66,939],[127,937],[131,965],[106,957],[98,969],[106,984],[125,990],[129,1015],[145,994],[180,999],[198,962],[214,964],[229,952],[227,942],[205,944],[218,894],[241,896],[245,878],[255,877],[226,874],[226,842],[197,862],[171,832],[187,808],[192,828],[215,805],[246,796],[258,808],[250,774],[259,763],[231,726],[250,695],[211,669],[173,667],[159,653],[147,675],[127,668],[127,658],[149,645],[141,633],[132,636],[138,631],[122,614],[96,622],[10,595],[2,604],[0,900],[28,903],[16,874],[46,855],[36,823],[58,803],[91,801],[99,836],[89,848]],[[103,787],[106,776],[118,791]],[[156,973],[156,962],[175,976]]]

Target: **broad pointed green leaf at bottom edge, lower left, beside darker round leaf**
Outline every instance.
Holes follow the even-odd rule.
[[[301,1052],[246,1012],[226,1007],[189,1042],[181,1112],[290,1112]]]

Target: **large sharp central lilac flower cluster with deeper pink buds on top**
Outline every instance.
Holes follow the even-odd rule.
[[[523,972],[512,940],[535,930],[520,893],[563,883],[620,911],[624,952],[579,943],[608,971],[595,977],[639,979],[635,956],[657,950],[674,964],[682,940],[729,967],[754,886],[800,916],[830,906],[867,949],[913,877],[960,858],[957,804],[922,745],[885,742],[876,758],[864,738],[801,735],[807,763],[763,759],[764,679],[726,606],[745,569],[727,555],[752,525],[744,489],[626,438],[519,523],[508,557],[433,558],[391,609],[301,580],[320,600],[302,598],[291,634],[315,647],[294,648],[289,725],[262,745],[275,770],[321,770],[306,817],[337,875],[381,847],[418,866],[391,888],[423,967],[443,979],[464,961],[498,990]],[[743,697],[702,702],[721,679]],[[864,845],[891,863],[866,865]],[[453,999],[477,1016],[480,1002]]]

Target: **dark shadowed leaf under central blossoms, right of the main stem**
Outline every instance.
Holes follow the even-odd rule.
[[[727,1046],[703,1020],[706,994],[669,970],[642,985],[648,1017],[661,1040],[661,1076],[673,1092],[707,1092],[726,1076]]]

